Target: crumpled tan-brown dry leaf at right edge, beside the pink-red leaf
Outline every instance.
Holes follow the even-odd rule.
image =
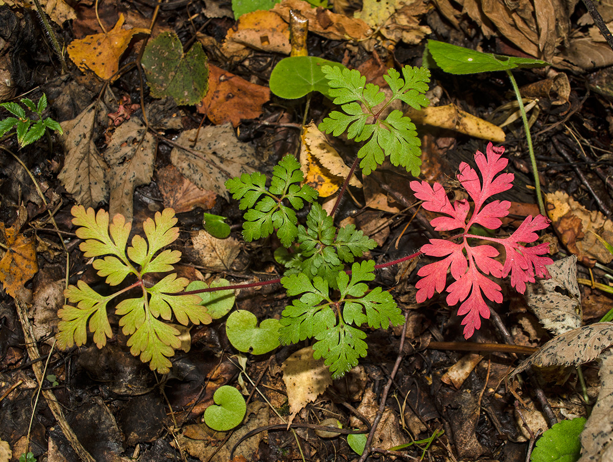
[[[613,222],[597,210],[589,211],[564,191],[546,195],[547,215],[569,251],[580,262],[593,267],[595,260],[607,264],[613,255],[593,233],[613,242]]]

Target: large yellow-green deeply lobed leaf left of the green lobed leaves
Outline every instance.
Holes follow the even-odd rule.
[[[139,297],[121,300],[115,306],[115,313],[121,316],[119,324],[123,333],[130,336],[128,346],[131,353],[140,355],[143,362],[149,362],[151,369],[167,373],[171,365],[169,357],[181,346],[181,341],[180,331],[165,321],[174,318],[183,325],[211,322],[207,308],[200,305],[202,298],[178,295],[188,285],[188,279],[177,278],[175,273],[171,273],[153,285],[143,280],[148,273],[173,271],[173,263],[181,258],[180,251],[161,251],[178,238],[179,230],[174,227],[177,223],[175,211],[167,208],[156,213],[154,219],[147,219],[143,223],[146,239],[135,235],[127,249],[131,224],[126,223],[121,214],[113,218],[110,226],[109,214],[104,210],[95,214],[92,208],[85,210],[83,206],[74,206],[72,215],[72,222],[78,226],[77,237],[84,240],[80,249],[86,258],[94,259],[92,264],[98,275],[106,278],[109,286],[121,284],[129,275],[136,282],[111,295],[102,295],[83,281],[78,281],[77,286],[69,286],[64,295],[76,306],[64,305],[58,311],[61,318],[58,347],[83,345],[87,341],[88,327],[97,347],[104,346],[107,337],[112,335],[107,305],[121,293],[130,289],[140,290]]]

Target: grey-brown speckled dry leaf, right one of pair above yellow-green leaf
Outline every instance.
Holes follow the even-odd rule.
[[[132,221],[134,189],[150,183],[155,153],[155,138],[139,118],[132,117],[116,128],[104,151],[110,167],[110,216],[121,213],[127,222]]]

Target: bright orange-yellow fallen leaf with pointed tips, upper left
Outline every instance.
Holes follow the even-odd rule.
[[[132,37],[135,34],[150,33],[150,29],[132,28],[122,29],[126,18],[123,13],[115,27],[105,34],[94,34],[83,39],[72,40],[67,47],[68,56],[79,69],[93,71],[98,77],[107,80],[113,75],[112,81],[120,76],[119,61],[123,52],[126,51]]]

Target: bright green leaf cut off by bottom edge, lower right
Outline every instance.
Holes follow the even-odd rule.
[[[585,418],[562,420],[538,439],[530,462],[576,462],[581,456],[581,432]]]

